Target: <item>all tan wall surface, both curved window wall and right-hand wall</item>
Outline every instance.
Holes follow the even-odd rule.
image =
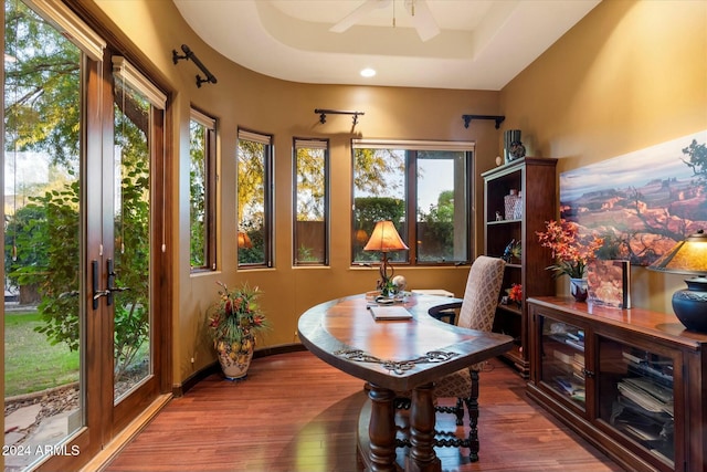
[[[213,359],[198,339],[198,326],[215,294],[215,281],[249,280],[265,291],[274,331],[267,345],[296,342],[298,315],[307,307],[369,290],[374,270],[349,266],[351,137],[475,140],[476,175],[493,167],[502,132],[493,122],[473,122],[464,113],[505,114],[504,129],[523,130],[528,155],[560,158],[559,171],[615,157],[707,129],[707,2],[606,0],[500,93],[392,87],[324,86],[283,82],[247,71],[212,51],[187,27],[168,1],[85,0],[128,55],[172,93],[172,146],[179,182],[172,212],[178,217],[175,321],[175,381]],[[105,14],[104,14],[105,13]],[[129,40],[128,40],[129,38]],[[192,63],[171,62],[171,50],[187,43],[219,78],[197,88]],[[126,54],[127,54],[126,53]],[[500,59],[499,59],[500,60]],[[199,107],[219,118],[221,156],[220,271],[189,275],[188,113]],[[366,112],[351,133],[347,116],[320,125],[314,108]],[[238,126],[273,134],[276,149],[276,268],[236,271],[234,145]],[[291,221],[292,137],[327,137],[331,145],[331,266],[293,269]],[[481,181],[476,201],[482,204]],[[475,230],[479,235],[481,212]],[[442,287],[461,294],[466,269],[401,269],[413,287]],[[546,274],[538,274],[546,276]],[[633,270],[632,295],[639,306],[671,311],[678,276]],[[564,285],[558,286],[566,290]],[[648,295],[652,294],[652,295]],[[190,359],[194,357],[193,365]]]

